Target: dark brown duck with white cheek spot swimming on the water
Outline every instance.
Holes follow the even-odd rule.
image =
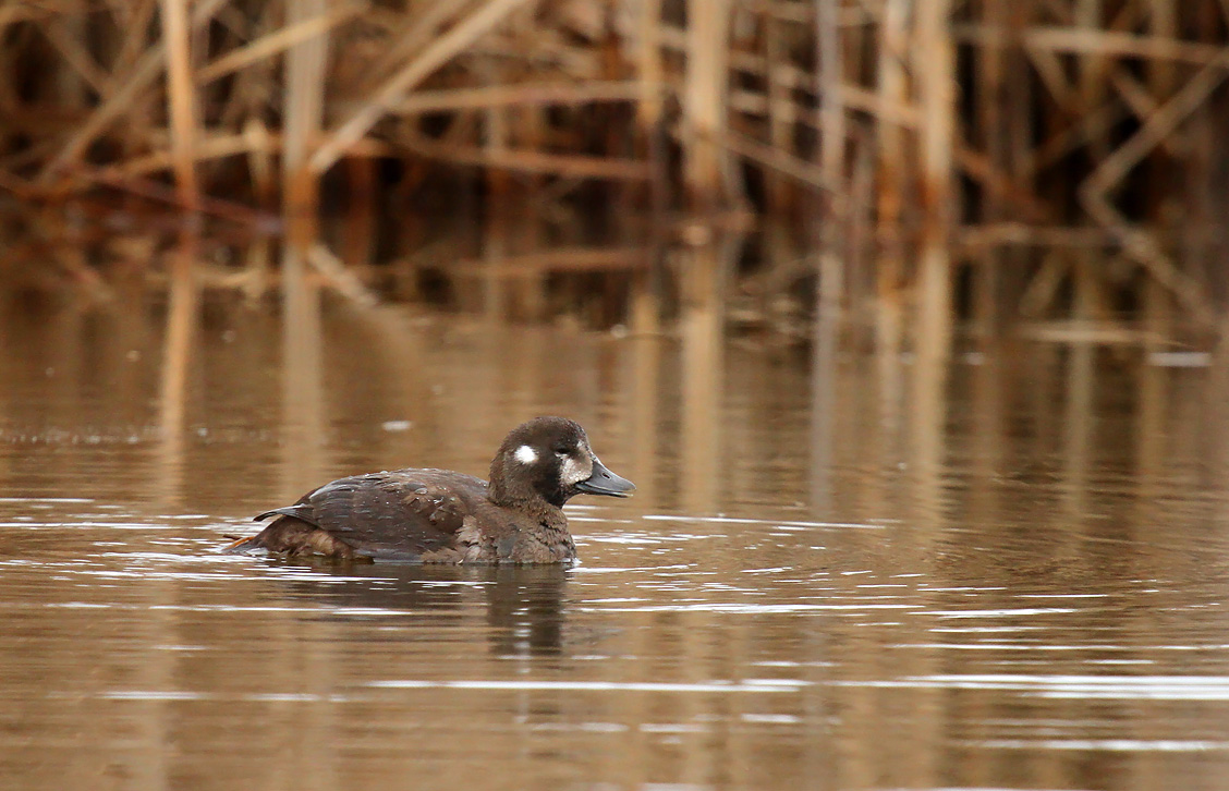
[[[407,468],[339,478],[225,550],[338,561],[573,564],[563,505],[578,494],[627,497],[635,485],[597,458],[580,424],[554,415],[512,429],[490,480]]]

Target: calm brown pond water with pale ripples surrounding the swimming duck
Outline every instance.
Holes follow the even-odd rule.
[[[0,314],[4,787],[1229,784],[1218,357],[1020,344],[935,387],[326,308],[284,362],[206,303],[178,410],[159,308]],[[639,486],[569,506],[579,567],[216,553],[342,474],[482,474],[544,411]]]

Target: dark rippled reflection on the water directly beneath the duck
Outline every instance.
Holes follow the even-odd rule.
[[[476,607],[484,607],[488,639],[497,656],[558,656],[563,651],[568,570],[559,565],[377,563],[311,566],[305,571],[290,580],[295,598],[327,602],[329,619],[370,622],[383,614],[398,624],[407,618],[419,619],[424,630],[438,630],[460,625]]]

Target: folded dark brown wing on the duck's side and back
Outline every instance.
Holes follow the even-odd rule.
[[[369,558],[446,561],[451,553],[460,559],[465,551],[462,544],[469,543],[462,534],[466,517],[485,500],[485,493],[487,483],[472,475],[399,469],[334,480],[295,505],[256,518],[284,516],[306,522]]]

